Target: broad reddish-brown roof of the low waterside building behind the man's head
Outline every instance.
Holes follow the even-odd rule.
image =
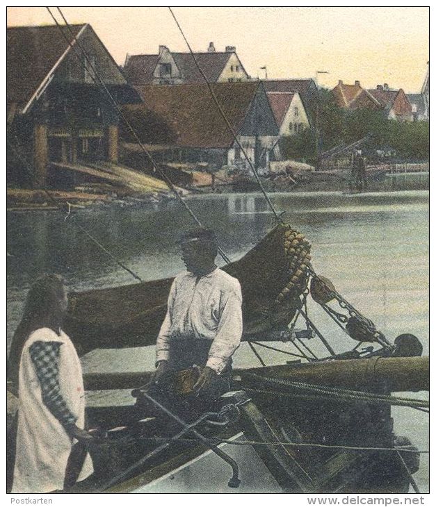
[[[213,83],[220,106],[234,131],[243,126],[259,82]],[[234,139],[211,99],[206,84],[137,86],[143,104],[125,106],[124,113],[141,117],[144,142],[178,147],[228,148]],[[162,138],[165,131],[165,139]]]

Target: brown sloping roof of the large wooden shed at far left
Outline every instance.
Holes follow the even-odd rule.
[[[76,36],[86,25],[70,26]],[[56,25],[8,28],[6,42],[7,101],[17,103],[22,108],[69,48],[69,44]]]

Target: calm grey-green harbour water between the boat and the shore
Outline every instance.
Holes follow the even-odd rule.
[[[272,199],[277,210],[286,211],[285,219],[312,242],[318,274],[331,279],[338,292],[389,340],[413,333],[428,354],[428,192],[273,194]],[[202,222],[216,230],[220,246],[232,260],[273,225],[261,194],[201,196],[189,202]],[[175,240],[192,222],[175,201],[141,208],[101,206],[80,210],[76,219],[143,280],[184,269]],[[43,272],[63,274],[71,290],[134,281],[70,220],[56,212],[8,213],[8,343],[26,290]],[[309,313],[336,351],[354,346],[316,304],[309,302]],[[325,354],[321,346],[310,345],[316,354]],[[256,364],[245,347],[236,354],[236,366]],[[261,354],[266,363],[286,361],[282,354]],[[152,363],[149,348],[135,349],[134,354],[94,351],[83,359],[84,368],[93,371],[151,369]],[[397,433],[426,449],[428,415],[406,408],[394,408],[393,413]],[[424,492],[428,490],[426,455],[421,463],[415,477]]]

